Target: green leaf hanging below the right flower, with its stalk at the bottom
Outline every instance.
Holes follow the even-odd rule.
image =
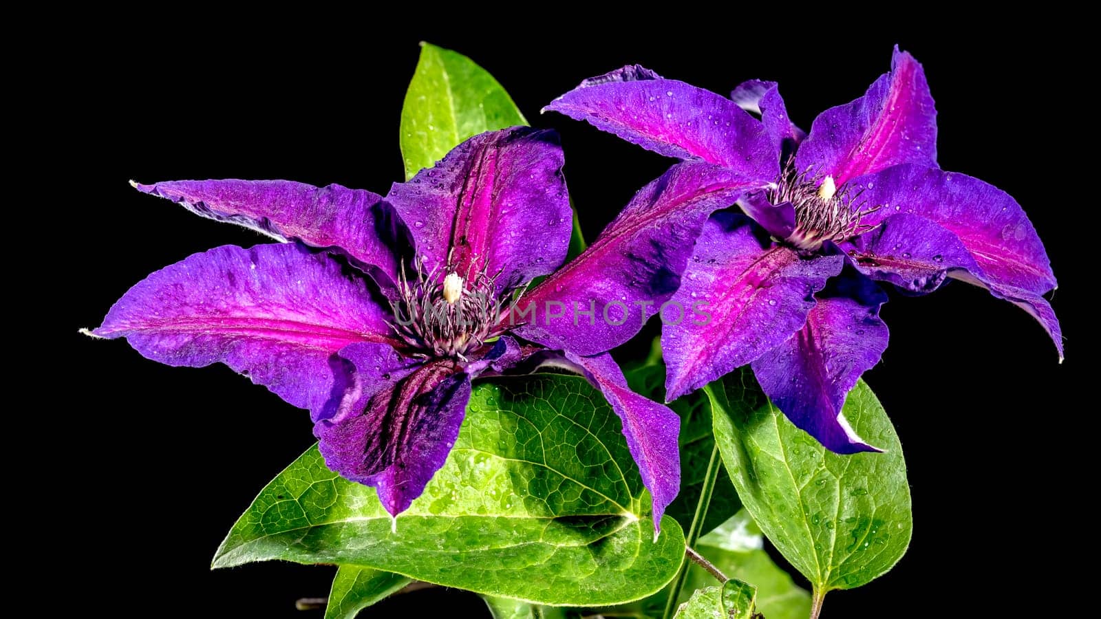
[[[857,383],[842,412],[882,454],[827,450],[768,402],[748,370],[706,390],[738,495],[816,595],[859,587],[897,563],[913,525],[906,463],[866,383]]]

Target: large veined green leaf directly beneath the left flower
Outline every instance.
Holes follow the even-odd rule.
[[[352,564],[545,605],[612,605],[661,589],[684,556],[672,518],[654,540],[648,506],[599,391],[575,376],[499,378],[475,385],[447,463],[395,521],[315,447],[260,492],[214,566]]]

